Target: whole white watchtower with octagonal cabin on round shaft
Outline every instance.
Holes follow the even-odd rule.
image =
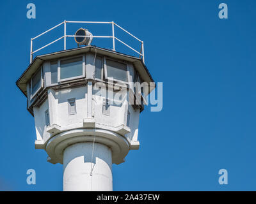
[[[63,191],[112,191],[112,164],[123,163],[129,150],[140,147],[141,101],[154,81],[140,57],[115,51],[114,30],[109,50],[91,46],[86,29],[85,36],[68,36],[67,23],[61,23],[64,50],[36,56],[17,86],[35,117],[35,148],[44,149],[50,163],[63,164]],[[114,29],[116,24],[109,24]],[[90,43],[66,50],[67,37]],[[31,39],[31,56],[36,38]]]

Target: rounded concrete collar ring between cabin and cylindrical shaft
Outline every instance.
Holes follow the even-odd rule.
[[[58,133],[48,140],[45,150],[51,159],[50,163],[63,163],[63,150],[69,145],[81,142],[97,142],[112,150],[112,162],[124,162],[129,152],[129,142],[124,136],[106,129],[79,128]]]

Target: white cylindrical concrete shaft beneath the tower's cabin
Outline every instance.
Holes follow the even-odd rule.
[[[75,143],[63,153],[63,191],[113,191],[111,149]]]

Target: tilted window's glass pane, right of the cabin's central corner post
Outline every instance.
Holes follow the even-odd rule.
[[[120,62],[115,62],[107,59],[108,77],[113,77],[117,80],[127,82],[126,65]]]

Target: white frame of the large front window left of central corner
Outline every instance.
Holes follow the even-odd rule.
[[[61,61],[64,61],[64,60],[68,60],[68,59],[76,59],[76,58],[79,58],[79,57],[82,57],[82,71],[83,71],[83,74],[82,75],[79,75],[77,77],[68,77],[68,78],[63,78],[61,79],[60,78],[60,71],[61,71],[61,67],[60,67],[60,62]],[[74,79],[77,79],[77,78],[84,78],[85,77],[85,55],[76,55],[76,56],[72,56],[72,57],[64,57],[64,58],[61,58],[61,59],[58,59],[58,84],[61,83],[61,82],[67,82],[67,81],[70,81],[70,80],[74,80]]]

